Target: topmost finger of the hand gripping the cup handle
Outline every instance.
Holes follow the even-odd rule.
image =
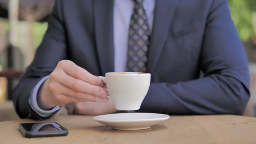
[[[92,85],[98,85],[100,87],[104,85],[104,82],[102,82],[101,79],[99,79],[95,75],[92,75],[90,72],[79,67],[78,65],[75,65],[75,63],[72,61],[62,60],[59,62],[57,66],[59,66],[68,75],[71,75],[76,79],[80,79],[84,82],[88,82],[89,84],[92,84]]]

